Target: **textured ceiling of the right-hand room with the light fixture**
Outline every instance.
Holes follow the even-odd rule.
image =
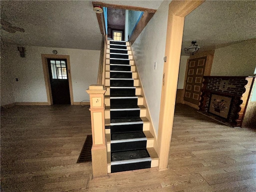
[[[199,51],[256,38],[256,1],[205,1],[185,18],[184,48],[197,40]]]

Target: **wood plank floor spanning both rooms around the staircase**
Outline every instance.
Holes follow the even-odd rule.
[[[92,179],[76,164],[91,134],[80,106],[1,110],[1,192],[255,192],[256,130],[231,128],[177,104],[169,170],[156,168]]]

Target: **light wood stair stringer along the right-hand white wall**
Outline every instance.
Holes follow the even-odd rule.
[[[130,43],[130,42],[129,42]],[[130,48],[132,50],[132,45],[130,44]],[[154,137],[154,150],[156,151],[156,153],[158,154],[158,157],[159,157],[159,146],[158,146],[158,142],[157,142],[157,138],[156,138],[156,132],[155,132],[155,129],[154,129],[154,126],[152,124],[152,120],[151,120],[151,115],[150,115],[150,111],[149,111],[149,108],[148,108],[148,104],[147,104],[147,100],[146,100],[146,97],[145,97],[145,94],[144,94],[144,90],[143,90],[143,86],[142,86],[142,83],[140,81],[140,73],[138,72],[138,68],[137,68],[137,65],[136,65],[136,59],[135,59],[135,56],[134,56],[134,52],[132,50],[132,55],[133,55],[133,59],[134,59],[134,65],[136,67],[136,72],[138,74],[138,79],[139,79],[139,85],[141,87],[141,95],[143,96],[144,100],[143,100],[143,105],[146,107],[147,109],[147,112],[146,112],[146,118],[150,121],[150,127],[149,127],[149,131],[150,133],[152,134],[152,136]],[[160,161],[160,160],[159,160]],[[159,162],[158,161],[158,162]]]

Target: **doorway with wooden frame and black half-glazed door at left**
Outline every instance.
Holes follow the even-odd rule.
[[[48,105],[74,104],[69,55],[41,54]]]

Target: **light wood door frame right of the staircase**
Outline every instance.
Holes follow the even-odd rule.
[[[172,138],[174,108],[180,66],[180,50],[185,16],[200,6],[204,0],[171,1],[168,10],[164,70],[158,124],[157,148],[158,169],[168,169],[168,158]]]

